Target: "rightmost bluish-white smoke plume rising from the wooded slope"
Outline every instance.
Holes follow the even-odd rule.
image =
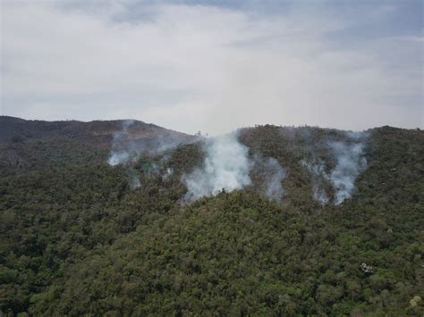
[[[355,179],[367,167],[363,156],[363,143],[329,142],[328,147],[335,155],[335,169],[330,180],[335,187],[335,204],[342,204],[344,199],[352,196]]]

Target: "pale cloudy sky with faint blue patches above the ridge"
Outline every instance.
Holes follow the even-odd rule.
[[[0,3],[4,115],[424,127],[420,0]]]

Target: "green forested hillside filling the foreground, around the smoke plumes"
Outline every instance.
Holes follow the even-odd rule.
[[[103,144],[4,138],[26,164],[1,170],[0,311],[420,315],[424,133],[370,129],[367,168],[352,198],[335,204],[334,184],[323,177],[323,204],[305,162],[322,162],[330,175],[337,161],[328,142],[353,137],[310,127],[242,129],[249,157],[272,157],[284,168],[282,201],[264,195],[255,165],[249,186],[190,204],[182,176],[202,164],[199,142],[110,166],[112,135]]]

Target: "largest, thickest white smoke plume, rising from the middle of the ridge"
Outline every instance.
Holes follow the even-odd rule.
[[[196,200],[216,195],[222,189],[230,192],[250,185],[249,151],[238,142],[235,133],[208,139],[205,150],[202,168],[182,177],[188,188],[184,200]]]

